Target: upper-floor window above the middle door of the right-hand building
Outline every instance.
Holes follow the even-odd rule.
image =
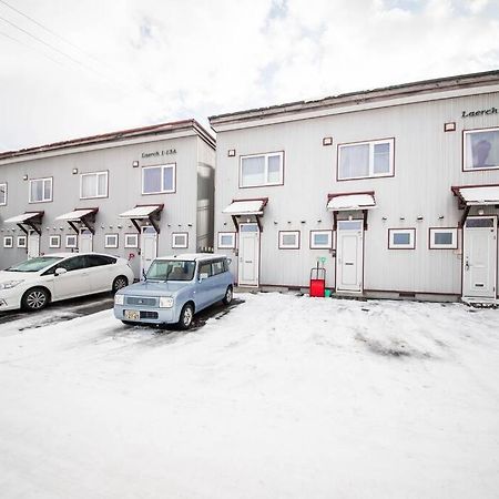
[[[394,139],[338,145],[338,180],[394,174]]]

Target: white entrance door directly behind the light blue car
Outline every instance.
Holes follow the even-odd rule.
[[[240,262],[237,283],[240,286],[258,286],[259,228],[258,224],[240,224]]]

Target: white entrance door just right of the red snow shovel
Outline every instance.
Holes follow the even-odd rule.
[[[364,221],[338,221],[336,243],[336,291],[363,291]]]

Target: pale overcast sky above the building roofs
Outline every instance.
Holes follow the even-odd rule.
[[[6,151],[496,70],[499,0],[0,0],[0,54]]]

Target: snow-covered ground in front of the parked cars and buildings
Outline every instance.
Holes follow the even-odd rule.
[[[0,497],[498,497],[499,310],[242,297],[0,326]]]

